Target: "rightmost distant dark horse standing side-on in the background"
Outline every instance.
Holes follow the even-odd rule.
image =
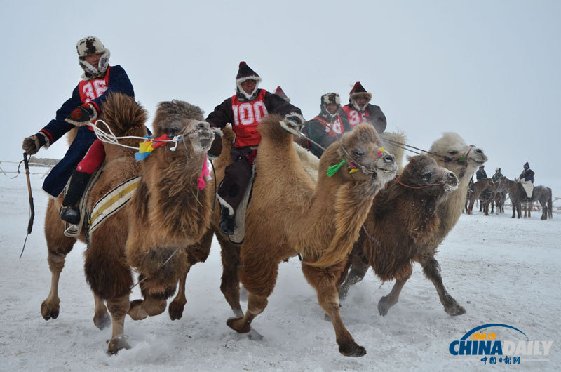
[[[511,197],[511,203],[513,204],[513,216],[511,218],[514,218],[515,213],[518,213],[518,218],[520,218],[522,203],[527,204],[534,201],[539,201],[539,204],[541,204],[541,220],[547,220],[548,217],[553,218],[552,193],[549,187],[534,186],[531,198],[527,197],[520,182],[509,180],[506,177],[500,178],[499,187],[508,190],[508,195]]]

